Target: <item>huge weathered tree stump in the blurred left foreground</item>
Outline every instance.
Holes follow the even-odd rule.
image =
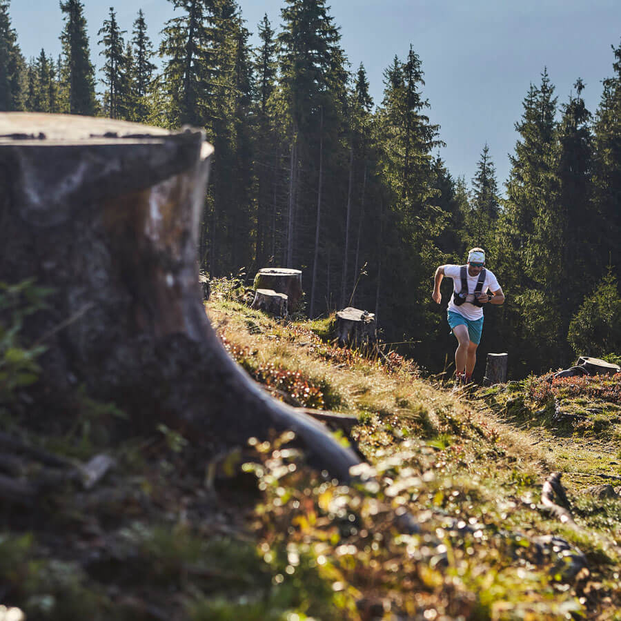
[[[196,248],[213,149],[202,132],[10,112],[0,135],[0,280],[53,290],[23,327],[47,347],[40,396],[58,403],[84,386],[135,424],[164,421],[214,452],[291,429],[317,465],[348,477],[359,457],[268,397],[206,318]]]

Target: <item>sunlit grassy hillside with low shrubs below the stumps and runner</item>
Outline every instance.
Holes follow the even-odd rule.
[[[83,396],[46,422],[6,403],[6,432],[64,465],[22,451],[12,480],[36,498],[0,485],[1,603],[29,620],[621,619],[619,375],[451,395],[395,354],[336,348],[329,319],[278,323],[226,286],[207,312],[275,398],[357,417],[337,432],[368,462],[355,483],[290,434],[207,459]],[[92,487],[40,484],[99,453],[115,466]],[[554,471],[560,509],[542,503]]]

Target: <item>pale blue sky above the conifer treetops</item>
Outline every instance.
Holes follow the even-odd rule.
[[[265,13],[277,29],[284,0],[239,0],[251,32]],[[83,0],[96,65],[97,30],[115,6],[121,28],[132,29],[141,8],[153,41],[175,12],[166,0]],[[328,0],[328,4],[329,0]],[[62,17],[58,0],[11,0],[12,24],[26,57],[41,48],[60,51]],[[621,40],[620,0],[333,0],[342,47],[352,69],[364,63],[376,103],[382,99],[384,69],[410,44],[422,60],[431,121],[440,124],[446,148],[440,155],[453,177],[470,182],[485,142],[502,186],[515,121],[531,82],[547,67],[564,103],[578,77],[595,112],[602,79],[612,74],[611,45]]]

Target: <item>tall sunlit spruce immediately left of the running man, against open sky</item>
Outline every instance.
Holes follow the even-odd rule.
[[[397,57],[384,72],[380,109],[382,179],[388,196],[386,213],[386,270],[382,288],[384,320],[395,334],[422,335],[435,324],[428,299],[428,275],[440,258],[435,242],[446,217],[437,206],[431,150],[442,145],[439,127],[424,111],[422,66],[412,48],[405,62]],[[405,328],[405,329],[404,329]],[[397,332],[398,331],[398,332]],[[396,339],[395,339],[396,340]]]

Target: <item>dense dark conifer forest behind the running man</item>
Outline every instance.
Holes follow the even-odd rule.
[[[376,313],[382,339],[430,373],[449,370],[454,340],[431,299],[435,268],[465,263],[473,246],[506,295],[486,311],[480,357],[509,352],[521,378],[621,353],[619,41],[597,109],[578,76],[563,98],[542,70],[515,119],[509,178],[482,144],[464,179],[437,155],[415,47],[386,67],[373,101],[325,0],[282,0],[280,23],[252,25],[235,0],[169,1],[175,17],[152,41],[142,10],[87,24],[80,0],[61,0],[61,55],[26,58],[0,0],[0,110],[204,128],[215,159],[201,270],[251,283],[266,266],[302,269],[301,312]]]

